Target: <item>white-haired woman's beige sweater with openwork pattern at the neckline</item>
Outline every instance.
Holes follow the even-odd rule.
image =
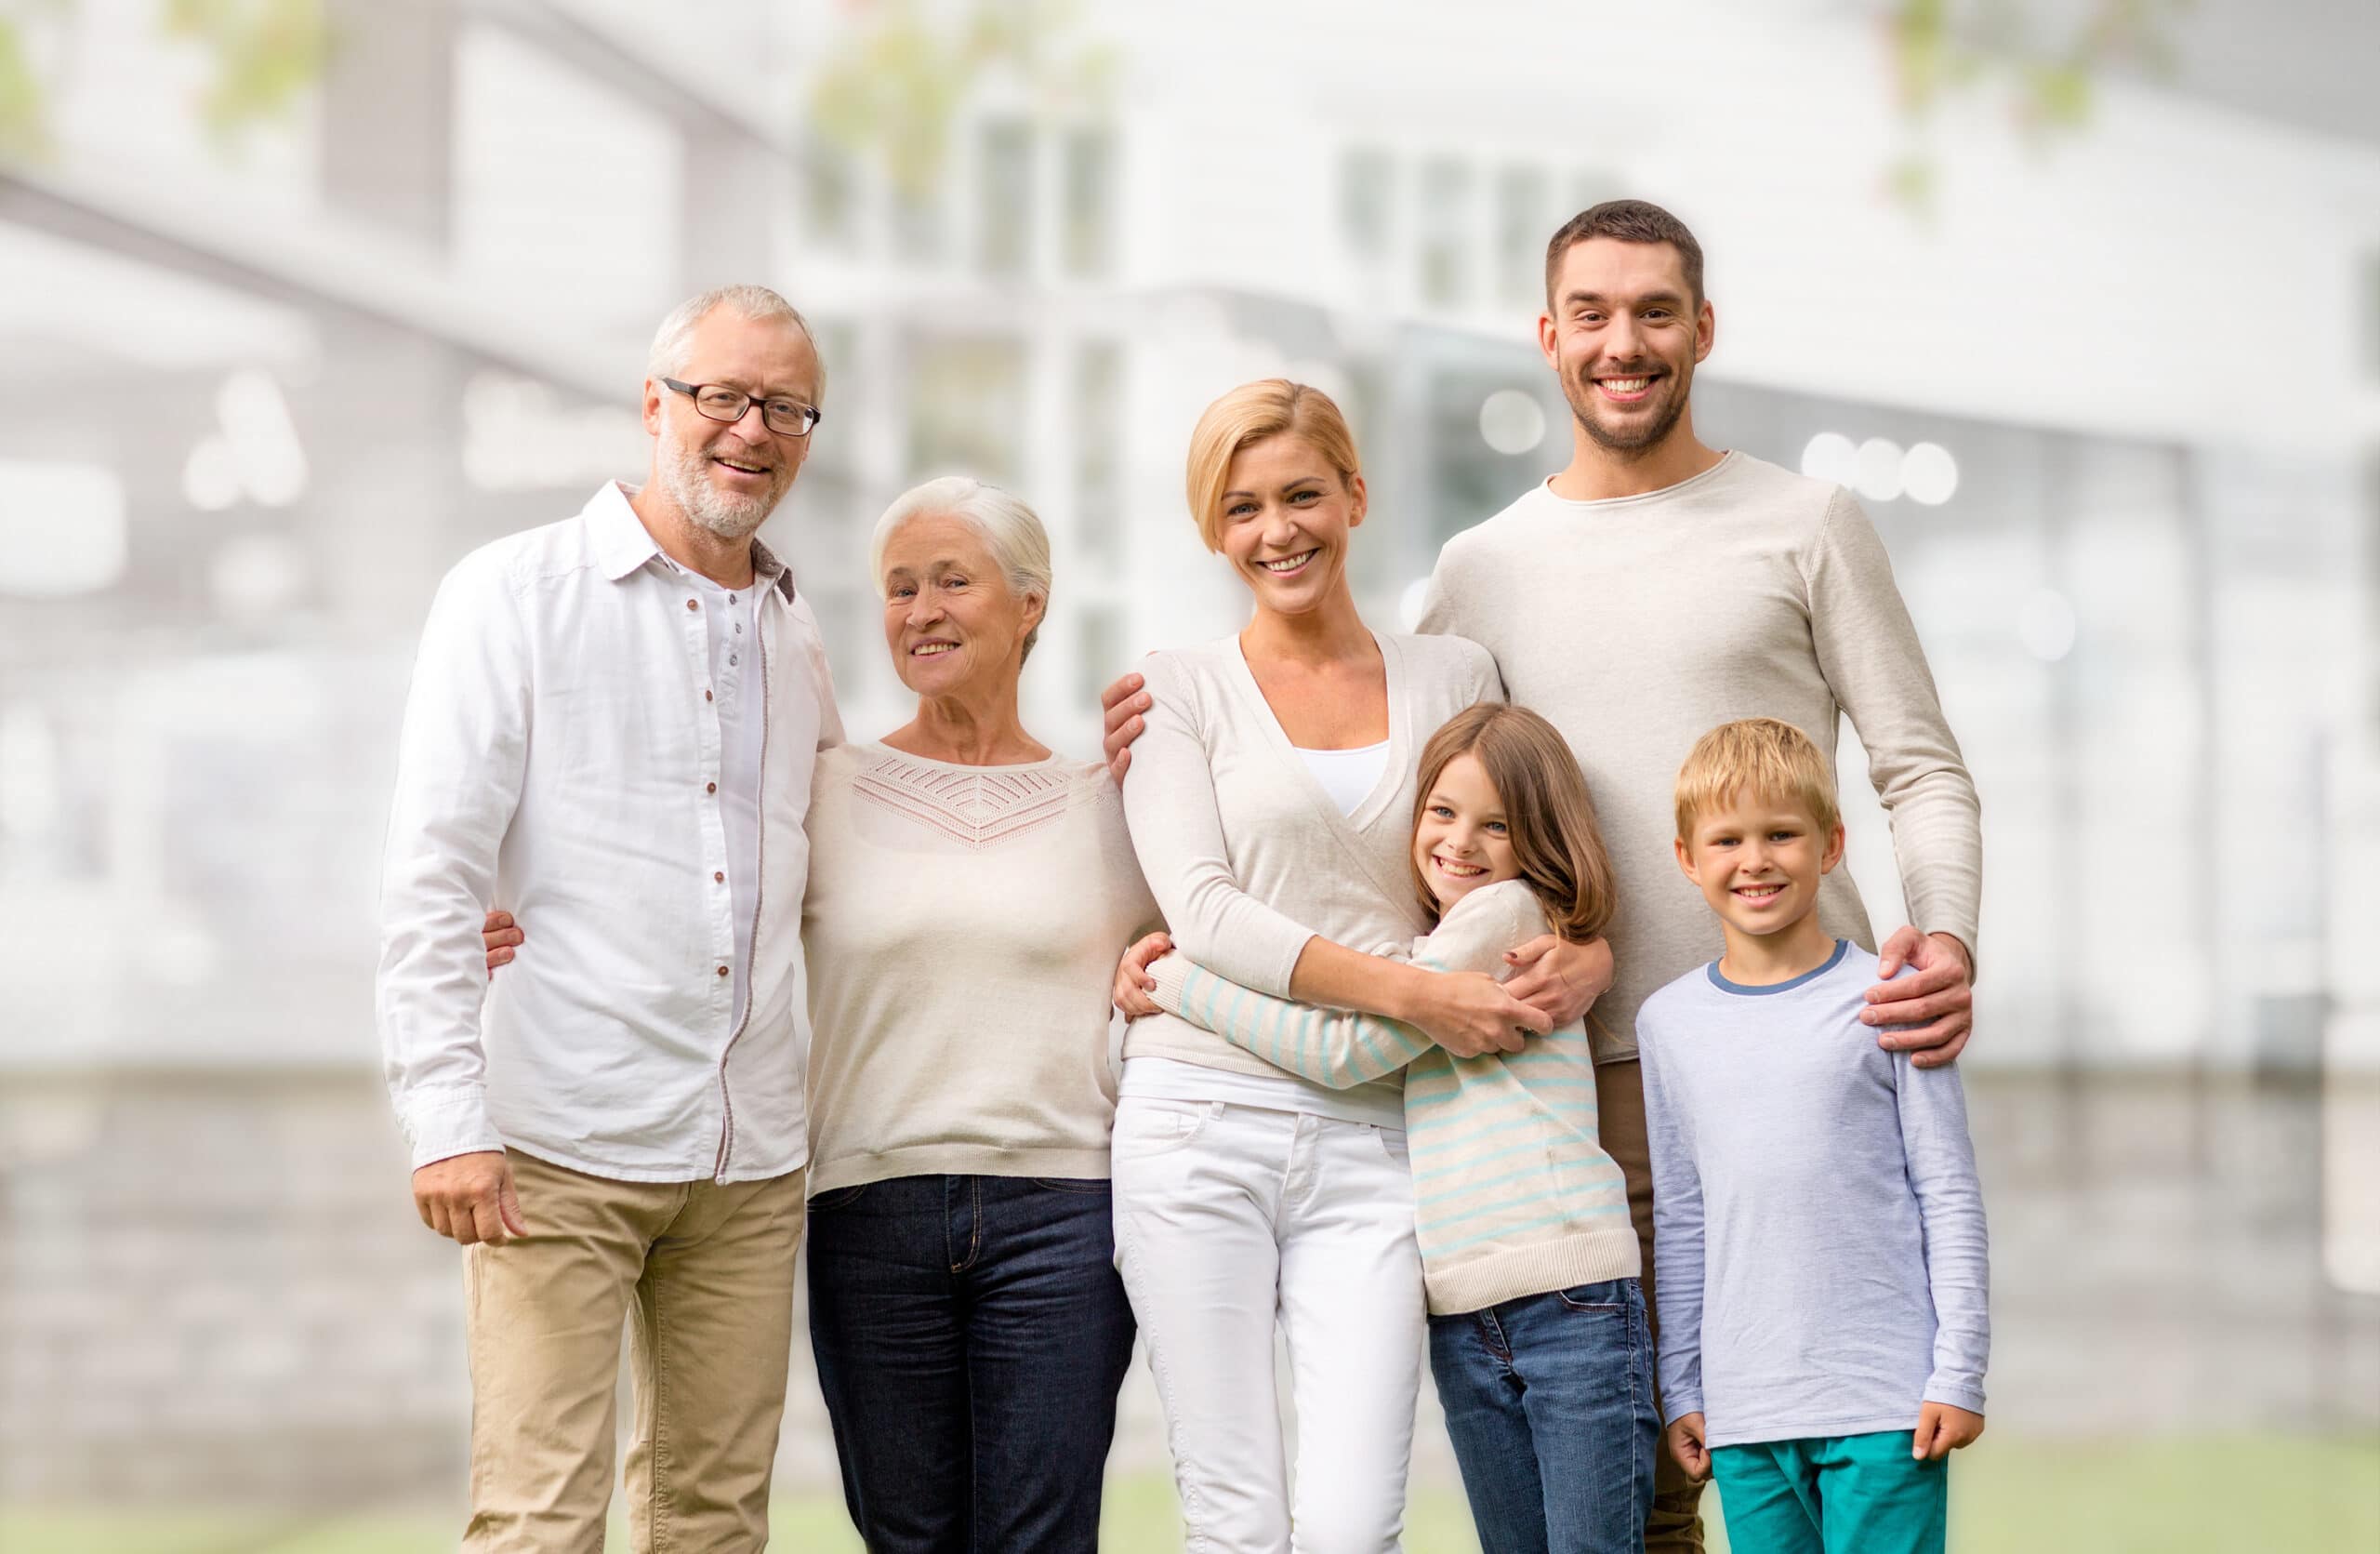
[[[809,1190],[1104,1178],[1109,990],[1157,921],[1107,769],[840,745],[809,847]]]

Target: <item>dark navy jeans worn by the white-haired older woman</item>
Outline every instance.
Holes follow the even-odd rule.
[[[809,1342],[871,1554],[1100,1547],[1133,1309],[1104,1180],[897,1176],[809,1199]]]

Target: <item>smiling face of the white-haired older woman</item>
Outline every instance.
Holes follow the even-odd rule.
[[[1014,693],[1042,600],[1009,588],[973,524],[909,519],[885,540],[883,569],[885,647],[902,685],[921,697]]]

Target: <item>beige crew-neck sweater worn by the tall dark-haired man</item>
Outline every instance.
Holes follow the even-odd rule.
[[[1849,714],[1911,921],[1975,947],[1975,783],[1885,547],[1840,485],[1742,452],[1642,497],[1537,485],[1447,540],[1421,628],[1488,647],[1504,695],[1545,714],[1587,773],[1621,892],[1597,1061],[1635,1057],[1637,1007],[1723,950],[1671,840],[1685,752],[1733,719],[1785,719],[1833,759]],[[1818,888],[1818,921],[1875,947],[1847,869]]]

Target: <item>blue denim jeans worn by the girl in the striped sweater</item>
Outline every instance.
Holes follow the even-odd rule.
[[[1652,1330],[1633,1278],[1430,1318],[1430,1373],[1480,1554],[1637,1554]]]

